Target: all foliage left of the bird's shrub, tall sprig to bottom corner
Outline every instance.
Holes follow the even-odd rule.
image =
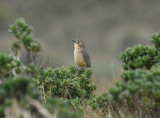
[[[9,31],[17,41],[11,46],[11,54],[0,52],[0,117],[79,118],[81,113],[70,110],[69,103],[61,98],[50,96],[45,102],[40,85],[33,81],[45,70],[36,66],[41,45],[33,38],[32,27],[20,18]],[[45,79],[47,82],[47,76]]]

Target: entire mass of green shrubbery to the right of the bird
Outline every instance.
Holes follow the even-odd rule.
[[[105,101],[112,103],[116,116],[160,117],[160,34],[152,35],[154,46],[137,45],[121,53],[124,71],[121,81],[106,93]],[[96,98],[103,98],[104,95]],[[107,101],[107,102],[106,102]],[[97,103],[97,102],[95,102]],[[98,105],[100,105],[98,104]]]

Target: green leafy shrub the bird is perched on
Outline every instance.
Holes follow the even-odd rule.
[[[46,70],[41,69],[35,78],[39,88],[42,88],[46,96],[62,97],[67,99],[90,98],[96,90],[91,80],[91,69],[86,71],[80,68],[78,71],[73,65]]]

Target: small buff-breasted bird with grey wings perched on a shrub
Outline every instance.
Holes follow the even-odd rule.
[[[72,40],[74,42],[74,61],[79,67],[91,67],[91,59],[83,41],[81,40]]]

